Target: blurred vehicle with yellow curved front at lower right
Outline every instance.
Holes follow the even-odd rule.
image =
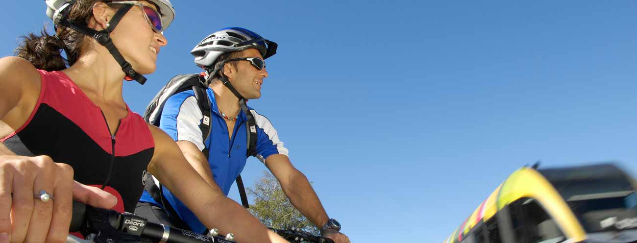
[[[636,190],[610,163],[522,167],[444,243],[637,242]]]

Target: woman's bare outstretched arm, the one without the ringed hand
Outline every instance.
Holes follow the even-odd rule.
[[[155,153],[148,171],[194,212],[208,228],[234,233],[237,242],[286,242],[218,188],[213,189],[192,169],[175,141],[161,129],[148,125]]]

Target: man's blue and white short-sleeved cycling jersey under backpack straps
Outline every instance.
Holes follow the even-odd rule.
[[[228,128],[224,118],[219,114],[215,94],[208,88],[206,90],[211,104],[210,136],[203,140],[199,125],[203,120],[203,114],[199,110],[197,100],[192,90],[180,92],[168,98],[160,118],[159,128],[164,130],[175,141],[190,141],[197,148],[208,148],[208,164],[212,171],[215,183],[227,196],[230,187],[234,183],[247,160],[247,117],[240,112],[237,118],[234,132],[229,139]],[[265,116],[259,115],[254,109],[249,108],[257,123],[257,158],[265,163],[270,155],[288,155],[288,150],[283,147],[283,142],[278,139],[275,128]],[[204,233],[206,227],[197,219],[195,214],[186,207],[176,196],[166,188],[163,188],[164,197],[173,206],[179,217],[197,233]],[[140,202],[150,202],[161,207],[160,203],[144,191]]]

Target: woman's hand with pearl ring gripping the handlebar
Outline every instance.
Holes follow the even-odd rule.
[[[39,198],[44,190],[53,197]],[[65,242],[73,199],[111,208],[117,198],[73,181],[73,168],[49,156],[0,156],[0,243]]]

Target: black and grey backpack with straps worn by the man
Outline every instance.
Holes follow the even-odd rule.
[[[164,109],[164,104],[166,104],[166,100],[174,94],[184,92],[186,90],[193,90],[195,94],[195,98],[197,99],[197,104],[199,105],[199,109],[203,114],[203,120],[199,128],[201,129],[201,134],[203,135],[203,141],[205,142],[208,137],[210,137],[210,99],[208,99],[208,95],[206,94],[205,80],[203,76],[199,74],[179,74],[173,77],[166,85],[159,90],[157,95],[150,101],[150,104],[146,107],[144,111],[144,120],[148,121],[148,123],[159,127],[159,118],[161,117],[161,112]],[[247,136],[248,136],[248,156],[256,156],[256,144],[257,144],[257,132],[256,132],[256,121],[252,113],[248,110],[245,102],[240,102],[241,109],[247,115]],[[208,149],[204,149],[203,154],[208,159]],[[178,218],[178,214],[176,214],[175,209],[171,207],[171,205],[166,202],[162,195],[162,186],[161,184],[154,183],[155,179],[148,173],[147,181],[153,183],[146,183],[145,190],[150,193],[150,195],[155,199],[155,201],[161,203],[164,206],[169,214],[173,216],[175,219]],[[241,197],[241,204],[243,207],[248,208],[248,197],[245,194],[245,188],[243,186],[243,180],[241,179],[241,175],[236,178],[237,188],[239,189],[239,195]],[[183,222],[182,222],[183,223]],[[183,224],[185,225],[185,223]]]

